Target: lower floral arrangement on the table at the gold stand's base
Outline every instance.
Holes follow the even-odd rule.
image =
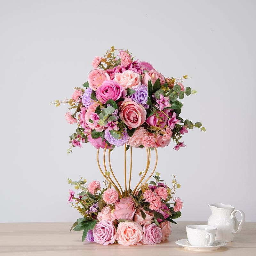
[[[169,187],[159,180],[159,173],[141,187],[136,195],[120,198],[115,189],[101,189],[99,181],[92,181],[86,186],[86,180],[72,181],[76,189],[82,191],[75,196],[69,190],[68,203],[83,217],[77,219],[70,230],[83,230],[82,241],[108,245],[157,244],[171,234],[170,222],[180,217],[182,202],[173,197],[176,188],[180,188],[176,178]]]

